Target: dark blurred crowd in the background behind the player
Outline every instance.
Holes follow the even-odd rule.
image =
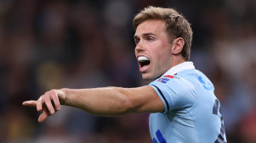
[[[63,106],[38,124],[36,109],[21,106],[51,89],[146,85],[132,19],[149,5],[191,22],[191,61],[213,81],[228,142],[255,143],[255,0],[0,0],[0,142],[151,142],[147,113],[101,118]]]

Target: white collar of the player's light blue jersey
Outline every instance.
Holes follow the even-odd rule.
[[[173,68],[169,69],[164,75],[174,75],[177,74],[179,71],[185,70],[185,69],[195,69],[195,66],[193,62],[184,62],[179,63],[175,65]]]

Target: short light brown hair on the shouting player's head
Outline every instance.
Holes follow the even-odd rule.
[[[134,30],[138,25],[148,19],[161,19],[166,22],[166,32],[172,43],[175,38],[182,37],[185,41],[181,51],[182,56],[188,61],[191,57],[192,30],[191,24],[174,8],[147,7],[134,17]]]

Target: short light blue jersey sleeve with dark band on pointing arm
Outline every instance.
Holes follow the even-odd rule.
[[[181,78],[159,78],[149,84],[161,98],[165,112],[192,107],[196,101],[196,89],[187,80]]]

